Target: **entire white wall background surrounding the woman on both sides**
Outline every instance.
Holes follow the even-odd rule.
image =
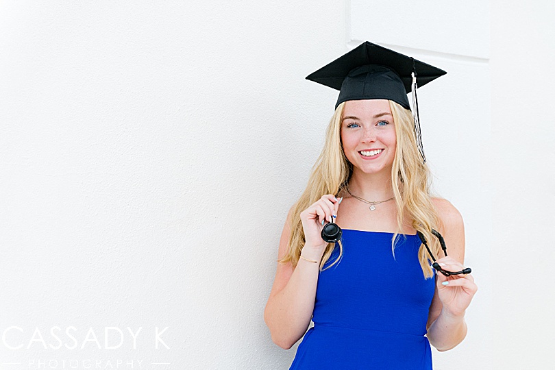
[[[288,368],[262,312],[337,96],[304,77],[364,40],[448,72],[423,143],[480,290],[435,368],[549,369],[555,4],[461,4],[0,1],[1,369]]]

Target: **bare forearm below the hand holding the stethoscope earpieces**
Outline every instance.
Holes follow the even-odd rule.
[[[453,316],[445,310],[428,328],[428,341],[438,351],[447,351],[456,347],[467,335],[467,324],[464,312]]]

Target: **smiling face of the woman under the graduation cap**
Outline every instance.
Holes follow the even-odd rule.
[[[341,142],[353,171],[389,171],[395,158],[395,124],[387,100],[349,100],[341,121]]]

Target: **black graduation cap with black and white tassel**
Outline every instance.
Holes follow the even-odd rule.
[[[339,90],[335,108],[348,100],[388,99],[410,110],[407,94],[412,92],[415,135],[425,162],[416,90],[417,86],[428,84],[445,73],[430,64],[367,41],[306,79]]]

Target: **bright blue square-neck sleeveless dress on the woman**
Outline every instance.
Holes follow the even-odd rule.
[[[432,369],[426,334],[434,279],[417,235],[343,230],[343,256],[318,278],[312,321],[290,369]],[[326,266],[338,256],[338,245]]]

